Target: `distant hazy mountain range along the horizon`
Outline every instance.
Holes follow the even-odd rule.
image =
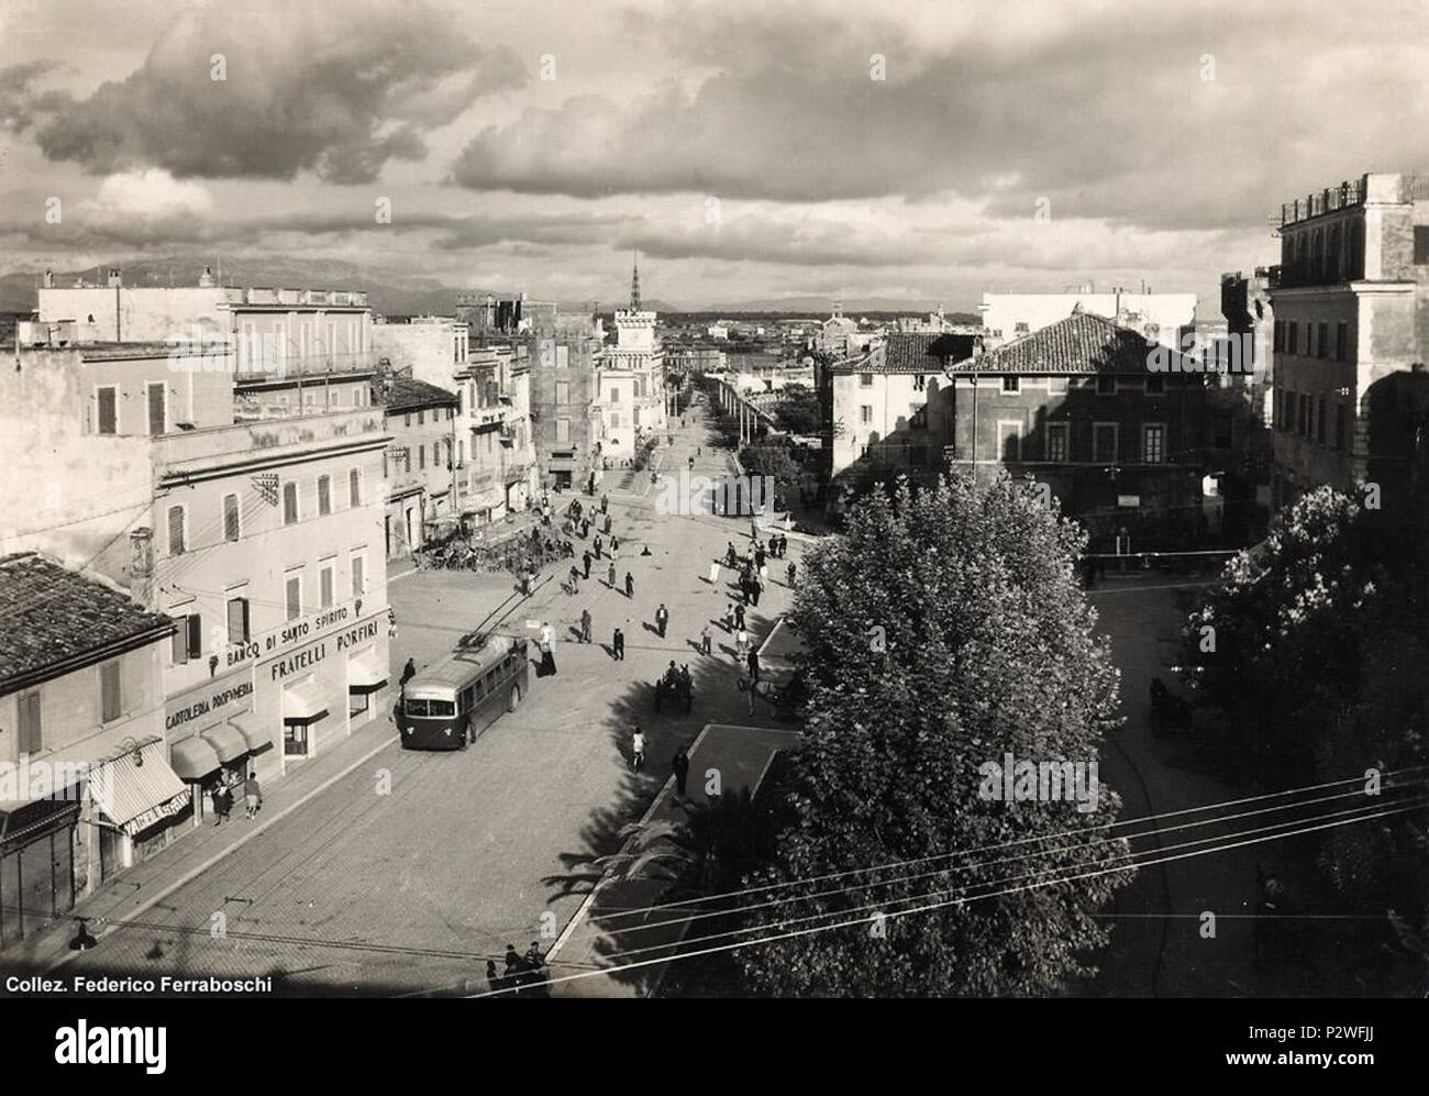
[[[273,289],[357,289],[367,292],[367,300],[374,312],[393,316],[416,314],[450,314],[456,306],[457,293],[493,293],[509,296],[513,289],[473,289],[470,286],[447,286],[439,279],[416,274],[403,274],[384,270],[376,266],[349,263],[339,259],[313,259],[292,256],[264,256],[262,259],[224,259],[223,269],[219,270],[213,259],[194,259],[191,256],[169,256],[161,259],[129,259],[107,263],[117,266],[124,273],[126,286],[197,286],[199,276],[206,266],[214,267],[214,274],[221,273],[226,286],[269,286]],[[77,279],[84,279],[91,284],[104,284],[106,267],[89,267],[87,270],[56,270],[57,286],[73,286]],[[40,286],[43,271],[27,270],[10,274],[0,274],[0,312],[27,312],[36,307],[36,290]],[[543,300],[539,292],[530,293],[536,300]],[[559,302],[562,312],[580,312],[584,302]],[[642,302],[644,309],[657,313],[709,314],[714,319],[739,319],[742,314],[777,314],[777,316],[816,316],[829,314],[827,297],[783,297],[777,300],[750,300],[737,304],[697,306],[672,304],[670,302],[650,299]],[[624,297],[603,300],[600,309],[612,312],[624,307]],[[845,300],[843,312],[857,317],[866,313],[915,314],[927,313],[937,309],[937,302],[899,302],[899,300]],[[976,322],[976,314],[970,314]]]

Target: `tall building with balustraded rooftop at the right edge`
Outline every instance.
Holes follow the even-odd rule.
[[[1410,374],[1429,336],[1429,177],[1365,174],[1280,209],[1275,504],[1330,484],[1403,500],[1416,444]]]

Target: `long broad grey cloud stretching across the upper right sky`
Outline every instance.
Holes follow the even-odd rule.
[[[1009,217],[1047,197],[1055,216],[1150,227],[1263,223],[1286,193],[1419,166],[1406,120],[1429,109],[1429,9],[1369,9],[1379,14],[1206,0],[1086,17],[1013,0],[966,13],[643,13],[630,26],[679,80],[624,101],[527,107],[477,133],[452,180],[583,199],[952,189]],[[886,80],[870,79],[875,54]]]

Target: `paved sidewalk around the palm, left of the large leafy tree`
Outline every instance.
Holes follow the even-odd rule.
[[[775,753],[797,742],[799,732],[792,729],[707,723],[689,750],[686,800],[709,806],[704,773],[710,769],[719,772],[723,794],[739,796],[745,789],[750,796],[757,794]],[[656,772],[667,770],[669,759],[652,757],[647,764]],[[640,822],[680,822],[684,816],[686,804],[674,793],[672,774]],[[684,940],[693,925],[689,917],[699,910],[694,903],[662,907],[660,893],[667,886],[662,880],[606,876],[552,946],[546,956],[553,965],[549,969],[553,977],[562,977],[593,967],[643,966],[557,982],[552,996],[647,997],[657,993],[669,969],[667,956]],[[696,927],[694,936],[699,935]]]

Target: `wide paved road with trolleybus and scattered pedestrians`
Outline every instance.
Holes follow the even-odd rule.
[[[673,450],[657,452],[677,469],[700,444],[696,470],[723,472],[726,454],[710,442],[692,423]],[[141,920],[160,927],[124,929],[77,956],[67,973],[262,973],[302,992],[412,993],[480,979],[486,957],[507,943],[549,946],[582,900],[552,900],[562,879],[613,850],[614,833],[640,816],[669,774],[677,742],[709,722],[773,723],[767,712],[747,716],[729,654],[704,657],[694,647],[700,626],[727,599],[723,586],[709,583],[709,563],[726,540],[743,544],[747,524],[660,516],[647,474],[629,479],[633,490],[612,490],[622,590],[596,583],[593,570],[579,597],[550,582],[507,620],[514,630],[549,620],[564,640],[557,676],[533,676],[516,713],[464,753],[382,752],[149,910]],[[619,476],[607,487],[616,483]],[[646,544],[652,554],[639,554]],[[550,570],[564,574],[564,566]],[[636,579],[633,599],[623,593],[626,570]],[[507,593],[504,580],[460,573],[423,572],[394,583],[393,667],[439,657]],[[672,614],[663,640],[653,629],[660,602]],[[599,644],[569,642],[586,606],[599,643],[609,644],[617,623],[624,627],[624,662]],[[755,634],[786,606],[787,590],[772,583],[750,613]],[[732,646],[716,629],[716,652]],[[649,683],[670,659],[687,662],[694,676],[689,716],[652,709]],[[633,774],[623,750],[637,719],[649,767]],[[383,782],[390,794],[379,793]],[[216,936],[220,913],[224,933]]]

